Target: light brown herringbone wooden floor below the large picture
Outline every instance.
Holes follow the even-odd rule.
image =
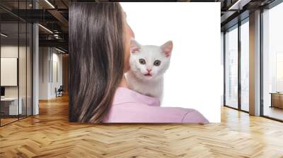
[[[221,108],[221,123],[68,122],[67,97],[0,128],[0,157],[283,157],[283,123]]]

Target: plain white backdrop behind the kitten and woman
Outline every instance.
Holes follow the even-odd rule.
[[[221,121],[220,3],[121,3],[140,44],[173,41],[162,107],[197,109]]]

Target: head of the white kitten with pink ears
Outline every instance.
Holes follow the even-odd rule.
[[[131,40],[130,71],[137,78],[158,79],[169,67],[173,42],[168,41],[161,46],[141,45]]]

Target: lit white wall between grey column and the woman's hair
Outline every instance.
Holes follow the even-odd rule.
[[[55,65],[57,65],[57,73]],[[58,75],[58,80],[54,74]],[[39,99],[56,97],[55,87],[59,88],[60,85],[62,85],[62,54],[51,47],[40,47]]]

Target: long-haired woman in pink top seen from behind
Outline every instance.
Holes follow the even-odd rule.
[[[194,109],[160,107],[129,90],[134,32],[119,3],[74,3],[69,8],[69,120],[89,123],[208,123]]]

